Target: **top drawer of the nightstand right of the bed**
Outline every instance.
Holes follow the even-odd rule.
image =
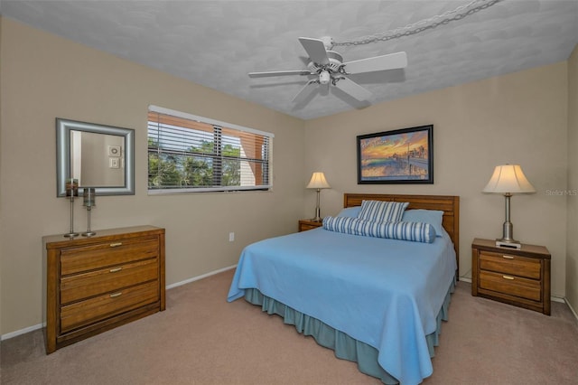
[[[540,279],[539,259],[480,251],[480,269],[490,270],[517,277]]]

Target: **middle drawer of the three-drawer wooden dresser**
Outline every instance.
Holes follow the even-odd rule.
[[[154,280],[159,274],[157,258],[93,270],[61,278],[61,304],[67,305],[126,286]]]

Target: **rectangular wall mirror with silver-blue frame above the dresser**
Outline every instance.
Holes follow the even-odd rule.
[[[79,194],[135,194],[135,130],[56,118],[56,189],[66,196],[66,180],[78,179]]]

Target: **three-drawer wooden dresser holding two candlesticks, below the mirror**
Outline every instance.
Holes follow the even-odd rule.
[[[47,353],[164,310],[164,229],[97,230],[42,242]]]

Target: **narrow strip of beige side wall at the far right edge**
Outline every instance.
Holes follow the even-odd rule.
[[[568,61],[568,192],[566,300],[578,314],[578,45]]]

